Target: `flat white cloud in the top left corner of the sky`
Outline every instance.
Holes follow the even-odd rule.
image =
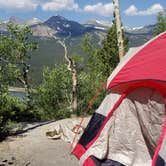
[[[32,0],[0,0],[0,9],[10,11],[31,11],[35,10],[37,3]]]

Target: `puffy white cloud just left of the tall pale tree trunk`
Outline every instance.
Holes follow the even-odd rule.
[[[95,13],[102,16],[111,16],[114,11],[113,3],[97,3],[95,5],[87,5],[83,9],[85,12]]]

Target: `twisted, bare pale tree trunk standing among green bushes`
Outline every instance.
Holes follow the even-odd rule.
[[[75,65],[75,61],[73,59],[71,59],[68,56],[68,51],[67,51],[67,47],[65,45],[64,42],[62,41],[58,41],[62,47],[64,48],[64,57],[67,61],[67,69],[71,72],[72,74],[72,93],[71,93],[71,112],[72,113],[76,113],[77,109],[78,109],[78,101],[77,101],[77,70],[76,70],[76,65]]]

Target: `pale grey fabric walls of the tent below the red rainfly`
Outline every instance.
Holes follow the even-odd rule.
[[[110,107],[104,105],[108,104],[108,99],[114,99],[115,103],[117,96],[110,93],[97,110],[98,114],[107,116]],[[164,99],[158,91],[148,87],[133,90],[123,99],[95,143],[81,157],[80,164],[94,156],[125,166],[151,166],[164,116]],[[160,152],[163,158],[164,152]]]

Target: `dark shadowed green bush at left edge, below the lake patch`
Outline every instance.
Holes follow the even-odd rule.
[[[34,109],[28,110],[27,106],[17,97],[8,93],[0,96],[0,132],[7,132],[12,123],[40,120],[40,115]],[[12,125],[13,126],[13,125]]]

